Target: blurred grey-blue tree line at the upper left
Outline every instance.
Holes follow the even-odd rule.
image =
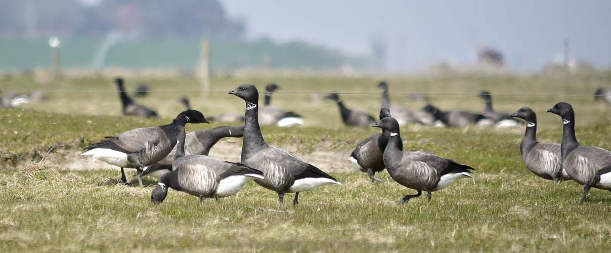
[[[241,40],[218,0],[0,0],[0,36],[99,38],[125,32],[143,38]]]

